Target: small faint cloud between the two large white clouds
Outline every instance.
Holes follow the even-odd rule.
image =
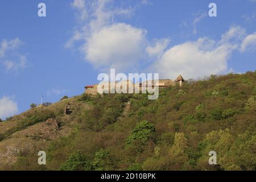
[[[146,47],[146,52],[150,57],[158,57],[160,55],[163,55],[163,51],[167,48],[169,43],[169,39],[155,40],[153,45],[148,45]]]

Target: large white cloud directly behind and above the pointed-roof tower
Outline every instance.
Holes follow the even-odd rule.
[[[199,38],[195,42],[173,46],[155,61],[151,69],[165,78],[175,78],[179,74],[185,78],[198,78],[225,73],[229,70],[229,57],[238,49],[238,44],[233,42],[234,38],[241,38],[241,30],[240,27],[230,27],[218,42]]]

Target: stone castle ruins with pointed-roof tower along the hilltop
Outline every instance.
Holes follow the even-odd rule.
[[[151,80],[151,81],[144,81],[144,82],[141,82],[139,84],[133,84],[133,82],[130,81],[130,80],[122,80],[122,81],[119,81],[119,82],[109,82],[108,90],[110,91],[111,86],[117,86],[117,85],[122,85],[122,84],[126,84],[127,89],[129,89],[129,85],[132,85],[133,88],[135,86],[139,86],[139,90],[141,90],[141,88],[144,87],[144,86],[145,87],[146,86],[152,86],[152,87],[158,86],[159,88],[164,88],[164,87],[167,87],[167,86],[175,86],[176,83],[179,83],[179,85],[182,86],[182,83],[184,81],[185,80],[183,79],[183,77],[181,75],[179,75],[175,80],[169,80],[169,79],[157,80],[157,81],[156,80]],[[96,95],[98,93],[97,92],[98,84],[86,85],[84,88],[85,88],[85,93],[92,94],[92,95]]]

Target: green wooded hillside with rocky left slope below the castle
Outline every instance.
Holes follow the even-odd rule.
[[[255,125],[256,71],[187,81],[153,101],[82,94],[0,122],[0,168],[255,170]],[[38,164],[40,150],[46,165]],[[208,164],[209,151],[217,165]]]

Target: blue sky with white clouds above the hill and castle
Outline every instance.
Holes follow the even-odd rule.
[[[81,94],[110,68],[172,79],[256,69],[255,0],[9,0],[0,2],[0,22],[3,119],[42,95]]]

